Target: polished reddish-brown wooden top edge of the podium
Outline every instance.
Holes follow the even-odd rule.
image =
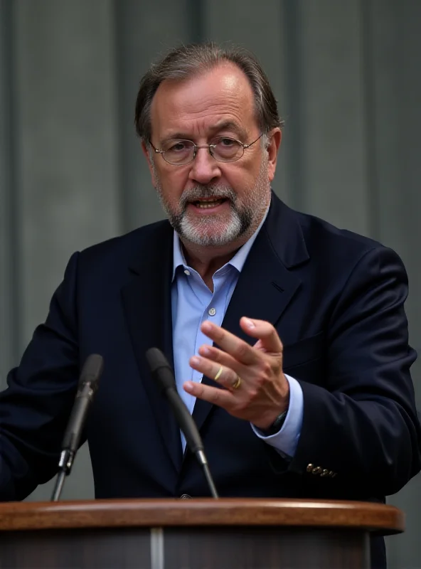
[[[302,526],[405,529],[394,506],[300,499],[125,499],[0,504],[0,531],[169,526]]]

